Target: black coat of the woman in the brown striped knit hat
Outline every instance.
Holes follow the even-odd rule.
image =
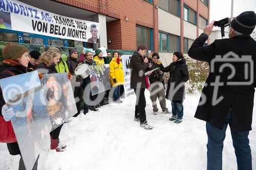
[[[8,70],[8,71],[6,71]],[[17,65],[17,66],[4,66],[4,65],[0,65],[0,79],[4,79],[4,78],[8,78],[13,76],[13,74],[15,76],[16,75],[21,75],[27,72],[26,67],[23,67],[22,65]],[[5,105],[5,101],[3,98],[3,93],[2,93],[2,89],[0,88],[0,113],[1,116],[2,115],[2,107]],[[17,142],[13,142],[13,143],[7,143],[7,148],[10,152],[11,155],[18,155],[20,154],[19,151],[19,147],[18,147],[18,143]]]

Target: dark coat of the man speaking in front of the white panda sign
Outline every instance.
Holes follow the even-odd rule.
[[[148,65],[143,62],[143,57],[138,52],[134,52],[130,60],[131,88],[146,88],[144,73],[147,67]],[[137,84],[139,85],[138,87]]]

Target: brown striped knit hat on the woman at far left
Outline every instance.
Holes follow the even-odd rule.
[[[26,52],[29,52],[28,48],[19,44],[8,44],[3,49],[3,56],[6,60],[17,61]]]

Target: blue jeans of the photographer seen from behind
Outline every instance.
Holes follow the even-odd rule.
[[[222,169],[222,150],[225,139],[227,125],[231,123],[232,111],[229,111],[223,130],[220,130],[210,123],[206,123],[206,132],[208,135],[207,143],[207,170]],[[238,170],[251,170],[251,149],[249,146],[249,131],[234,132],[230,128],[234,153],[237,157]]]

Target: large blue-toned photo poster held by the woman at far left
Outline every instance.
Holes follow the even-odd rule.
[[[0,86],[15,113],[11,122],[26,169],[32,169],[52,129],[38,72],[1,79]]]

